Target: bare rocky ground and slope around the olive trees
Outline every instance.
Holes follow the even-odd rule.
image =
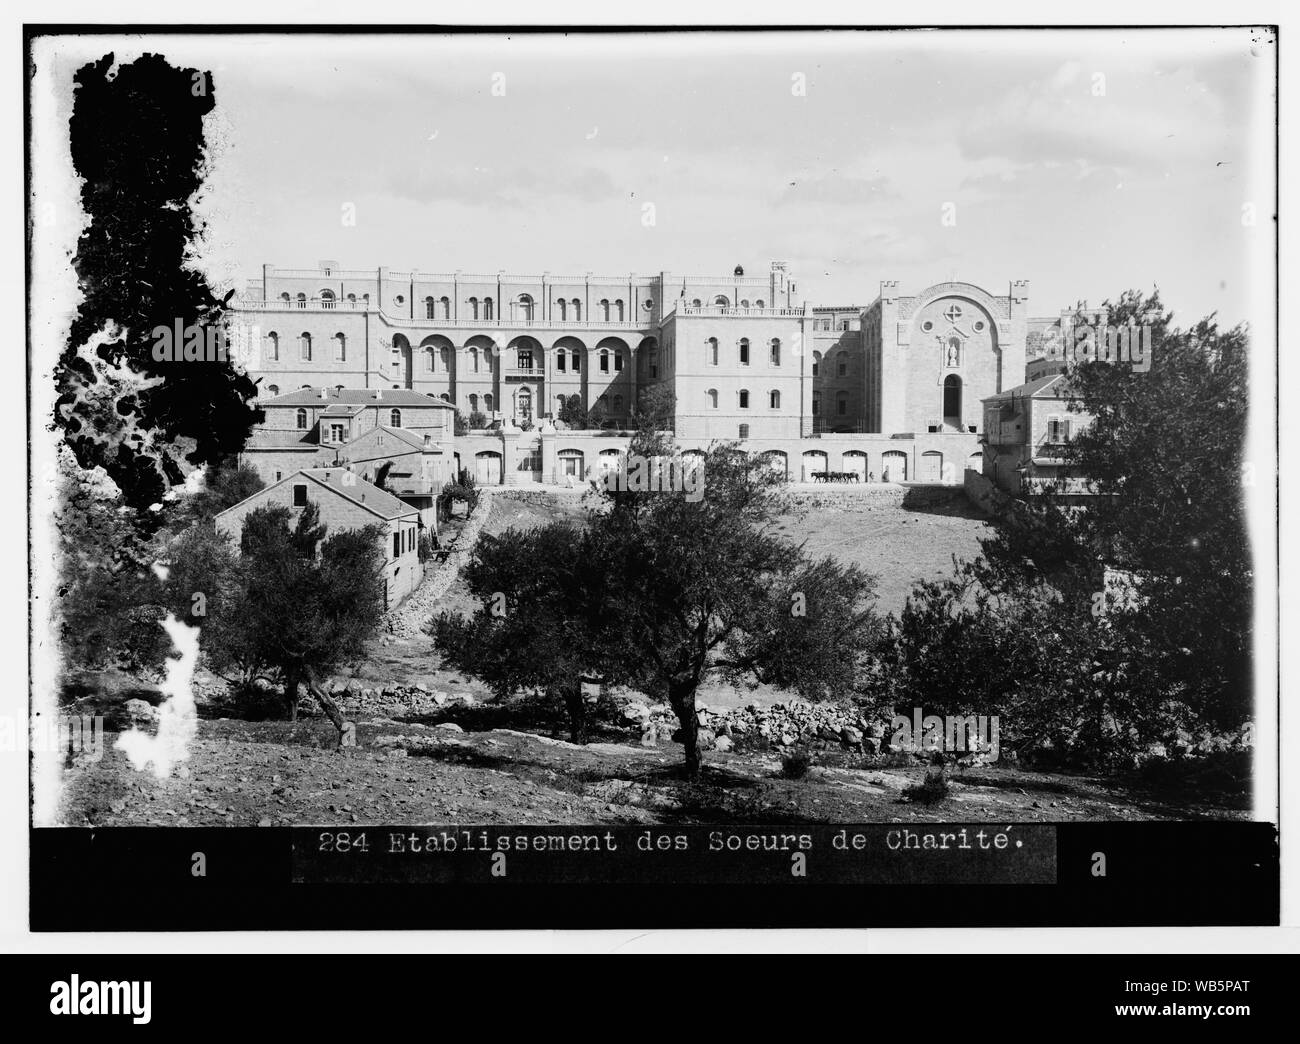
[[[875,491],[874,491],[875,493]],[[910,504],[909,501],[910,499]],[[456,575],[477,532],[577,519],[578,495],[494,493],[463,527],[448,564],[390,615],[368,660],[333,679],[356,746],[304,699],[289,723],[277,693],[235,703],[228,686],[196,679],[198,737],[168,779],[136,772],[117,733],[151,728],[159,696],[122,675],[83,676],[65,710],[104,714],[100,761],[64,768],[58,820],[69,826],[229,823],[660,823],[1199,819],[1249,816],[1249,754],[1175,758],[1106,779],[1035,772],[966,758],[948,770],[936,805],[907,796],[920,758],[892,750],[888,723],[793,701],[767,689],[711,686],[698,723],[705,771],[681,776],[679,723],[636,693],[604,693],[592,742],[566,741],[559,707],[490,698],[442,668],[420,631],[438,608],[472,608]],[[801,495],[780,520],[812,554],[858,560],[881,575],[881,608],[901,606],[911,579],[978,551],[984,523],[953,490],[880,490],[871,497]],[[905,563],[898,567],[897,563]],[[889,568],[881,571],[881,566]],[[892,571],[890,571],[892,569]],[[135,702],[133,702],[135,701]],[[792,757],[796,755],[796,757]],[[792,779],[801,759],[810,767]]]

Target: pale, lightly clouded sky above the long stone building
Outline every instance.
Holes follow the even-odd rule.
[[[1275,48],[1251,30],[103,36],[58,62],[109,49],[213,73],[218,281],[783,259],[819,304],[1027,278],[1036,315],[1156,283],[1182,321],[1271,307]]]

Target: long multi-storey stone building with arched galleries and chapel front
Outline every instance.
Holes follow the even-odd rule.
[[[737,267],[705,277],[268,265],[234,308],[265,400],[303,389],[369,390],[482,413],[503,430],[462,439],[456,463],[499,454],[476,468],[502,482],[516,481],[515,471],[543,481],[572,476],[578,455],[589,471],[599,450],[572,433],[582,445],[568,447],[568,463],[546,467],[564,449],[547,451],[554,439],[524,438],[515,451],[478,441],[543,434],[572,395],[619,428],[651,389],[672,394],[684,447],[744,439],[779,452],[790,478],[809,471],[803,462],[823,459],[820,469],[832,471],[849,469],[836,467],[849,459],[863,477],[930,477],[936,468],[927,462],[937,458],[945,467],[935,481],[959,482],[978,465],[982,402],[1022,385],[1036,348],[1072,315],[1031,319],[1023,281],[1004,295],[966,282],[904,295],[887,281],[864,307],[814,306],[780,261],[762,276]],[[905,451],[900,439],[914,441]],[[927,449],[916,452],[915,439]]]

